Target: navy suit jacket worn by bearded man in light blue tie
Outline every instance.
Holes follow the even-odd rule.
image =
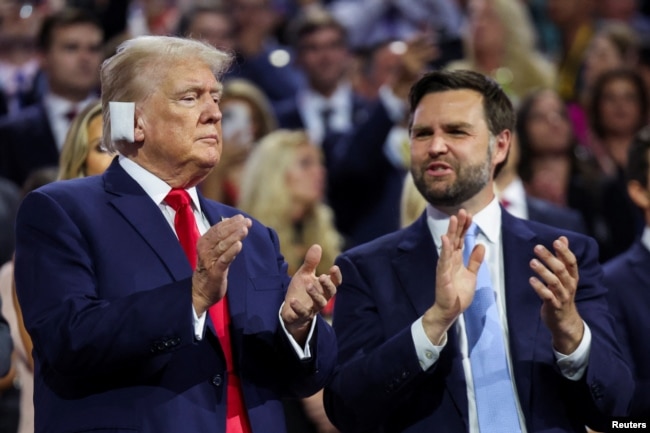
[[[529,433],[605,428],[603,414],[625,415],[633,382],[612,329],[593,239],[502,216],[505,290],[512,367]],[[537,244],[569,238],[580,267],[576,302],[592,333],[582,380],[565,379],[530,287]],[[334,329],[339,363],[325,407],[343,432],[467,432],[467,389],[455,327],[440,359],[422,371],[412,323],[434,303],[436,247],[426,214],[411,226],[345,252]]]

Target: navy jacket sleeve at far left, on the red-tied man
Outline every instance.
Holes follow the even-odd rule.
[[[191,279],[139,292],[124,287],[125,296],[107,299],[92,240],[75,221],[39,191],[18,212],[16,289],[39,361],[68,377],[156,374],[171,352],[193,344]]]

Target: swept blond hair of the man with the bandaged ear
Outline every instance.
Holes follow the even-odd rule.
[[[160,85],[171,65],[204,64],[219,80],[231,62],[231,54],[195,39],[139,36],[123,42],[101,68],[104,147],[119,151],[118,147],[126,143],[111,140],[109,102],[134,102],[137,109],[138,103],[145,101]]]

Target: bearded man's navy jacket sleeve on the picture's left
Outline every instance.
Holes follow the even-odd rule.
[[[364,273],[346,254],[337,264],[344,276],[334,309],[339,368],[325,388],[325,408],[342,431],[374,431],[400,411],[422,377],[435,375],[437,369],[424,372],[420,367],[411,323],[384,335],[372,288],[380,292],[381,281],[391,284],[389,278]]]

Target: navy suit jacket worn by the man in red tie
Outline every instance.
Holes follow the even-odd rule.
[[[211,224],[236,209],[201,198]],[[49,184],[18,213],[16,284],[34,340],[36,432],[223,432],[226,365],[196,341],[192,269],[158,205],[113,162]],[[254,222],[228,276],[233,357],[253,432],[285,431],[282,396],[324,386],[336,341],[320,318],[300,361],[278,316],[289,278]],[[208,322],[210,322],[208,320]]]

